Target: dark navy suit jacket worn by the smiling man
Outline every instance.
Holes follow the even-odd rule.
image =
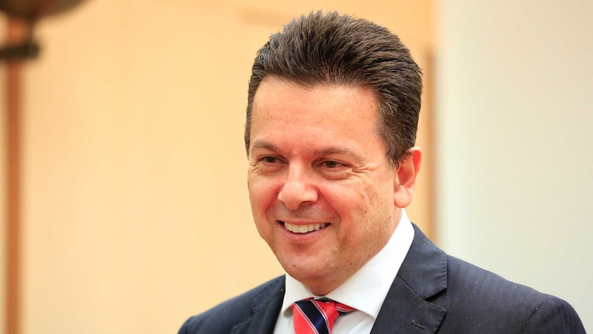
[[[585,333],[572,306],[446,255],[415,236],[371,334]],[[272,333],[284,276],[191,317],[180,334]]]

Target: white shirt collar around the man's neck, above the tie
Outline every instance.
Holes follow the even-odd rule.
[[[327,293],[325,297],[352,306],[376,319],[389,288],[410,249],[413,238],[414,229],[405,210],[402,209],[400,222],[385,247],[356,271],[354,275],[336,289]],[[310,293],[301,282],[287,273],[286,291],[280,314],[290,317],[292,315],[292,309],[290,309],[292,303],[305,298],[317,297],[321,296]]]

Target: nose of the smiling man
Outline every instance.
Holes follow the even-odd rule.
[[[317,189],[312,176],[302,167],[289,167],[288,176],[278,193],[278,200],[290,210],[317,201]]]

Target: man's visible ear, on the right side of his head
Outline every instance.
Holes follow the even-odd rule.
[[[393,204],[399,208],[407,207],[412,201],[416,188],[416,176],[422,166],[420,147],[412,147],[409,152],[409,156],[395,170],[396,176],[393,180]]]

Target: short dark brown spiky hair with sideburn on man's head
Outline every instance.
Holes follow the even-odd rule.
[[[247,98],[249,154],[253,98],[265,76],[305,86],[352,85],[375,92],[377,134],[398,165],[416,142],[422,70],[398,36],[365,19],[311,12],[292,19],[257,52]]]

